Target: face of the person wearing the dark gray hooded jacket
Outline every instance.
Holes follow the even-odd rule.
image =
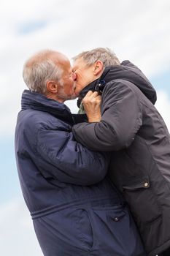
[[[72,71],[74,73],[74,83],[75,83],[75,95],[78,97],[80,91],[82,91],[85,86],[95,80],[93,75],[94,65],[88,66],[85,61],[80,58],[74,61]]]

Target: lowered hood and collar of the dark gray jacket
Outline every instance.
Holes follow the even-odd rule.
[[[134,85],[137,86],[148,99],[150,99],[150,102],[155,104],[157,99],[156,91],[152,87],[150,81],[145,77],[142,71],[130,61],[123,61],[120,65],[106,67],[101,75],[101,78],[94,80],[84,89],[82,89],[77,105],[79,105],[81,99],[85,97],[85,94],[89,90],[99,91],[101,93],[104,86],[109,81],[115,79],[128,80],[129,82],[134,83]]]

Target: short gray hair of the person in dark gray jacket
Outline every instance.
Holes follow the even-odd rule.
[[[83,51],[73,58],[73,61],[82,58],[88,66],[94,64],[96,61],[102,61],[104,67],[110,65],[120,65],[120,61],[115,53],[109,48],[96,48],[93,50]]]

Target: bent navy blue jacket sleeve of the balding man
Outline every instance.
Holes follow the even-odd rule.
[[[45,178],[88,186],[107,174],[109,154],[89,151],[74,140],[72,132],[40,129],[36,151],[37,165]]]

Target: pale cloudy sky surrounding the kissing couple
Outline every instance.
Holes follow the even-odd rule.
[[[1,0],[0,1],[0,254],[42,256],[20,192],[14,132],[26,86],[23,63],[37,50],[109,47],[151,80],[156,104],[170,129],[169,0]],[[66,103],[76,112],[76,102]]]

